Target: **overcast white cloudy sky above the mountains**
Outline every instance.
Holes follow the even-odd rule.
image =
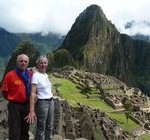
[[[91,4],[99,5],[119,32],[150,35],[150,0],[0,0],[0,27],[17,33],[67,34]]]

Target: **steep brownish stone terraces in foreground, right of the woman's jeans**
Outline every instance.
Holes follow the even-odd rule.
[[[80,105],[72,108],[66,100],[55,99],[54,135],[63,139],[112,140],[132,138],[103,111]]]

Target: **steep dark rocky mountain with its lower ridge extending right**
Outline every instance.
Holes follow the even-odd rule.
[[[77,67],[115,76],[150,93],[150,43],[119,33],[97,5],[77,17],[55,53],[61,49],[68,51]]]

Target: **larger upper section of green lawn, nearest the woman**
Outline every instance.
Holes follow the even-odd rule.
[[[80,90],[76,88],[76,85],[71,81],[63,78],[51,78],[53,84],[60,84],[60,95],[66,99],[72,106],[77,106],[77,103],[88,105],[91,108],[98,108],[104,111],[113,110],[100,98],[87,99],[87,96],[80,93]]]

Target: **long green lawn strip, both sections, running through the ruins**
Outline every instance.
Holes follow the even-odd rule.
[[[57,85],[57,89],[59,89],[59,96],[66,99],[72,106],[77,107],[78,103],[80,103],[94,109],[97,108],[100,110],[104,110],[110,118],[114,119],[122,129],[129,133],[140,127],[130,119],[128,119],[127,122],[125,113],[113,112],[113,109],[108,106],[103,100],[101,100],[100,98],[94,98],[96,94],[93,95],[93,98],[87,98],[87,95],[82,94],[80,90],[76,88],[76,85],[71,81],[56,77],[51,77],[51,81],[53,85]]]

